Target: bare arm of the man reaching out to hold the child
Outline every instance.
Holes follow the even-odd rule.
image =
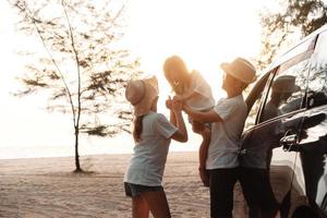
[[[209,110],[206,112],[192,110],[189,106],[184,105],[183,110],[194,120],[197,122],[221,122],[222,119],[219,114],[214,111]]]

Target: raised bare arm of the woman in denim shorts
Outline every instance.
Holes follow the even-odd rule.
[[[172,140],[175,140],[178,142],[187,142],[187,131],[185,128],[184,119],[182,117],[182,104],[178,101],[172,102],[172,110],[171,114],[173,119],[175,119],[175,126],[178,128],[178,131],[171,136]]]

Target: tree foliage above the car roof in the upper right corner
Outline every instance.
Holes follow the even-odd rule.
[[[261,14],[263,37],[259,69],[271,63],[278,51],[327,23],[327,5],[322,0],[287,0],[281,12]]]

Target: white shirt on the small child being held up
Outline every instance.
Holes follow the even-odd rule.
[[[184,92],[182,97],[187,97],[194,92],[199,95],[191,97],[185,101],[191,109],[201,111],[211,109],[215,106],[211,88],[197,71],[191,72],[190,87]]]

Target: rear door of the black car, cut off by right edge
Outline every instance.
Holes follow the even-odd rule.
[[[294,179],[312,208],[327,216],[327,32],[319,34],[306,92],[306,113],[299,142]],[[322,216],[323,217],[323,216]]]

